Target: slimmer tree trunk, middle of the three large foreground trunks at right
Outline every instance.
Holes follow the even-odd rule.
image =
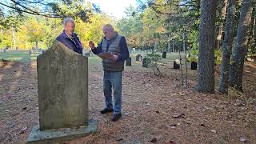
[[[229,86],[230,55],[233,46],[233,28],[235,16],[234,1],[235,0],[229,0],[228,12],[226,16],[225,37],[222,45],[222,67],[218,89],[218,91],[222,94],[228,93]]]

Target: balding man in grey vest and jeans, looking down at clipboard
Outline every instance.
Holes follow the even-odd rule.
[[[122,117],[122,71],[124,62],[129,57],[129,51],[126,44],[126,38],[114,32],[113,26],[107,24],[103,26],[104,38],[94,46],[94,42],[89,42],[89,46],[94,54],[111,53],[113,57],[102,59],[104,70],[103,92],[105,96],[106,107],[101,111],[102,114],[114,111],[112,121],[117,121]],[[112,89],[114,95],[114,106],[112,104]]]

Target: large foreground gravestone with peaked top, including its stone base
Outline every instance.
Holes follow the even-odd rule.
[[[97,130],[88,111],[88,58],[61,42],[37,58],[39,126],[28,143],[52,143]]]

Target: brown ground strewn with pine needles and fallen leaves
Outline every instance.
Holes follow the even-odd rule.
[[[123,72],[122,118],[111,122],[104,107],[101,63],[90,64],[90,118],[98,132],[60,143],[256,143],[256,66],[246,62],[244,94],[194,90],[197,71],[188,70],[188,86],[170,63],[162,77],[138,62]],[[183,71],[184,72],[184,71]],[[0,62],[0,143],[25,143],[38,124],[36,63]],[[23,129],[23,130],[22,130]],[[20,134],[21,133],[21,134]]]

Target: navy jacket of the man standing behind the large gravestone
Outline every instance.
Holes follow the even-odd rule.
[[[60,34],[56,40],[62,42],[65,46],[67,46],[70,50],[77,52],[78,54],[82,54],[82,44],[78,38],[78,34],[73,34],[73,38],[69,38],[66,35],[65,30],[63,30],[62,34]]]

